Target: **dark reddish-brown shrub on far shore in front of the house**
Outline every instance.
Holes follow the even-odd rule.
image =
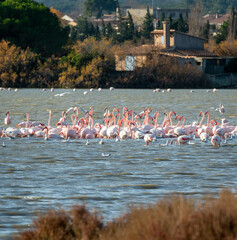
[[[205,87],[205,77],[197,66],[181,67],[175,58],[153,54],[142,67],[118,77],[116,84],[129,88],[201,88]]]

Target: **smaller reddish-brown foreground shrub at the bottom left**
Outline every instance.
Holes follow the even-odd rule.
[[[90,213],[84,205],[70,212],[50,210],[34,221],[33,229],[20,233],[17,240],[91,240],[98,239],[103,227],[101,218]]]

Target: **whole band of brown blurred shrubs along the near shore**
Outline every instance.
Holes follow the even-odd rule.
[[[16,240],[234,240],[237,236],[237,198],[224,190],[216,199],[197,202],[166,197],[154,205],[131,207],[127,214],[103,224],[85,206],[51,210],[34,221]]]

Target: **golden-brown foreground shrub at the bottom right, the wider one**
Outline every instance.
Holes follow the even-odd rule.
[[[222,191],[218,199],[195,204],[183,197],[154,206],[133,207],[108,225],[101,240],[223,240],[237,237],[237,198]]]

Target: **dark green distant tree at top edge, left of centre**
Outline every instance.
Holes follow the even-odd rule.
[[[95,15],[96,18],[103,16],[103,11],[115,11],[116,1],[114,0],[86,0],[84,11],[89,16]]]

